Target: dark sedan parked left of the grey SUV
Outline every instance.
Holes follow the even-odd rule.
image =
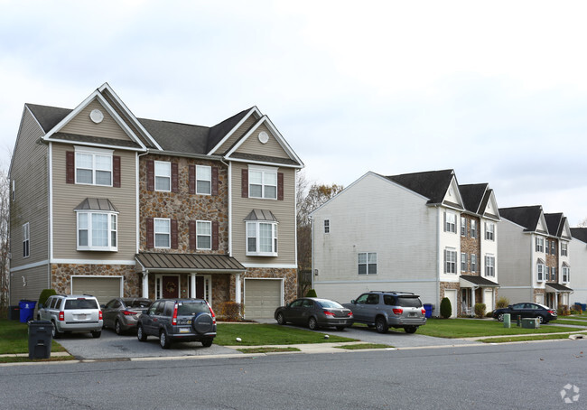
[[[307,325],[312,331],[320,327],[335,327],[343,331],[352,325],[353,316],[349,309],[328,299],[303,297],[275,310],[275,320],[279,324],[288,321]]]

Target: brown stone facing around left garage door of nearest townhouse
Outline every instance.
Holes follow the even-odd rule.
[[[52,264],[51,288],[58,294],[70,294],[71,275],[123,276],[123,296],[141,296],[141,275],[135,272],[135,266]]]

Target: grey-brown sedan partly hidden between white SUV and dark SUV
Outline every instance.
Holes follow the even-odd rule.
[[[145,298],[117,297],[102,305],[104,327],[114,329],[116,334],[136,330],[139,315],[153,301]]]

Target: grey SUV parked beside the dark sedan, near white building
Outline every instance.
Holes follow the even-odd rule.
[[[352,311],[355,321],[375,327],[379,333],[386,333],[389,328],[415,333],[426,323],[426,311],[417,294],[372,291],[342,305]]]

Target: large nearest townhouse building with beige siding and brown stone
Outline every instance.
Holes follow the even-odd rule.
[[[211,127],[139,119],[107,83],[73,109],[26,104],[10,169],[11,303],[53,288],[271,317],[296,295],[302,167],[256,107]]]

